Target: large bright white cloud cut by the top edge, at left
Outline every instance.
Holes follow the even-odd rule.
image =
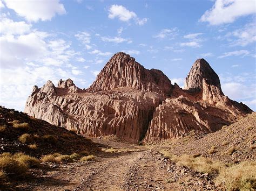
[[[59,0],[44,0],[44,1],[12,1],[4,0],[6,7],[13,9],[19,16],[25,17],[30,22],[38,20],[51,20],[56,15],[66,13],[64,5],[59,3]]]

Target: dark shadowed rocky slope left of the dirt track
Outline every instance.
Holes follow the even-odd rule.
[[[41,157],[56,152],[97,151],[95,144],[83,136],[15,110],[0,107],[0,127],[0,154],[23,152]]]

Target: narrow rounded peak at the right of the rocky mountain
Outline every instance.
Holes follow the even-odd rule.
[[[203,89],[203,79],[207,84],[215,86],[221,91],[219,76],[203,58],[194,62],[186,77],[184,89],[191,92],[201,91]]]

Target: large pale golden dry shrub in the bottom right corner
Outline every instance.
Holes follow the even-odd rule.
[[[238,165],[221,168],[215,183],[227,190],[255,190],[256,162],[244,161]]]

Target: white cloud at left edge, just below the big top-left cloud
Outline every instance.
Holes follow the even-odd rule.
[[[9,18],[2,18],[0,20],[0,33],[2,34],[24,34],[31,30],[32,25],[24,21],[14,22]]]

